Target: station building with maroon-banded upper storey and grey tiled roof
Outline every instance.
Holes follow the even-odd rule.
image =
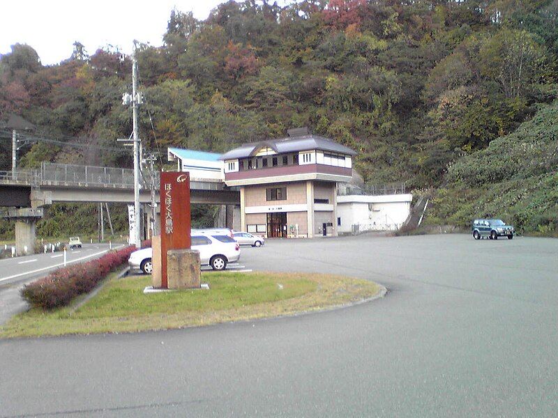
[[[294,131],[294,132],[293,132]],[[221,155],[240,188],[241,229],[276,237],[337,235],[336,183],[352,176],[354,150],[301,130]]]

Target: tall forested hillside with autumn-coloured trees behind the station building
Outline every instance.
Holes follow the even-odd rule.
[[[203,22],[169,10],[163,46],[137,52],[142,139],[153,150],[224,151],[308,126],[358,150],[368,183],[439,187],[555,100],[557,13],[558,1],[543,0],[228,1]],[[87,145],[39,142],[21,166],[129,166],[109,147],[131,131],[121,104],[130,61],[74,46],[48,67],[33,45],[0,58],[0,117],[15,112],[45,137]]]

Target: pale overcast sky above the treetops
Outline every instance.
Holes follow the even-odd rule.
[[[205,20],[212,8],[226,0],[0,0],[0,54],[27,43],[43,65],[68,59],[73,43],[82,42],[89,54],[107,44],[130,53],[133,40],[163,44],[170,11],[193,11]]]

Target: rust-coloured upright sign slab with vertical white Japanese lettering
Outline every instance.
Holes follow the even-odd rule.
[[[190,173],[162,171],[161,287],[168,288],[167,251],[188,249],[190,240]]]

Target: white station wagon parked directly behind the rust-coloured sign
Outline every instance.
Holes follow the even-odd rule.
[[[225,270],[228,263],[239,261],[240,245],[227,235],[192,235],[191,249],[199,251],[202,265],[209,265],[213,270]],[[128,265],[132,270],[142,270],[146,274],[153,272],[153,249],[138,249],[130,254]]]

